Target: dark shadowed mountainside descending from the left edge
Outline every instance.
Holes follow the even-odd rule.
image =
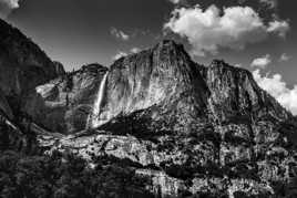
[[[35,43],[0,19],[1,149],[34,152],[34,135],[22,112],[24,98],[34,93],[35,86],[63,73],[61,63],[53,63]]]

